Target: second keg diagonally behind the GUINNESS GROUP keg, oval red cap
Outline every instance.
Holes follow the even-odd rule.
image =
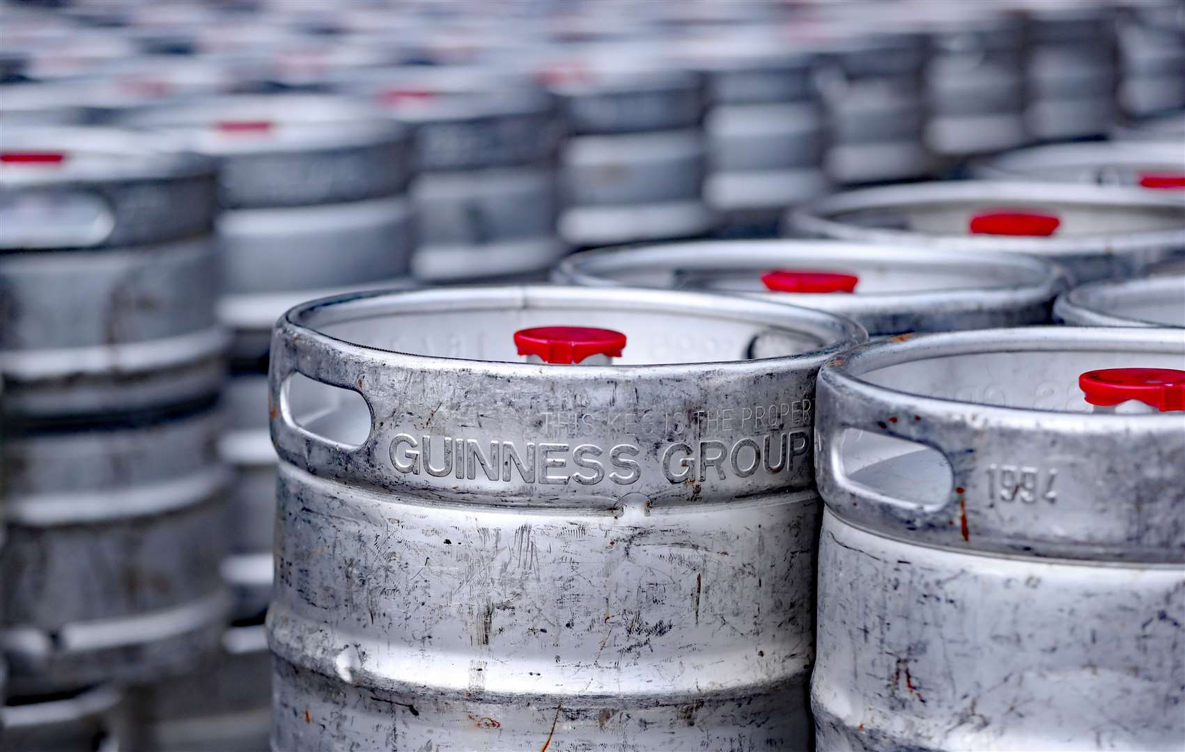
[[[792,211],[787,231],[854,243],[1040,256],[1077,283],[1128,277],[1185,252],[1176,192],[952,181],[840,193]]]

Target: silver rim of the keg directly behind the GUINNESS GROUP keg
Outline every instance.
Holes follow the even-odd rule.
[[[691,240],[592,249],[564,258],[552,271],[552,281],[585,287],[623,287],[628,283],[616,282],[609,275],[628,272],[632,269],[645,270],[664,263],[670,263],[672,269],[685,268],[705,272],[750,268],[754,271],[768,271],[802,264],[807,269],[818,266],[856,272],[854,268],[859,265],[883,266],[892,262],[902,262],[907,269],[925,266],[952,271],[960,271],[967,263],[974,263],[980,268],[993,266],[1001,271],[1006,270],[1018,279],[992,287],[976,287],[972,278],[975,272],[968,270],[969,284],[966,288],[856,293],[826,300],[812,294],[766,290],[713,288],[711,291],[807,308],[820,307],[857,319],[875,335],[897,333],[880,332],[880,327],[875,326],[876,319],[882,316],[930,314],[942,317],[960,311],[1006,313],[1025,306],[1048,306],[1069,285],[1069,275],[1064,269],[1037,256],[981,250],[948,253],[924,246],[879,246],[828,239]],[[600,275],[598,266],[602,271]]]

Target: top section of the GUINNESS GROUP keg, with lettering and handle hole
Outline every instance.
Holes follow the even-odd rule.
[[[536,327],[609,329],[592,349],[614,364],[527,361],[515,333]],[[806,489],[813,374],[865,338],[832,314],[686,291],[327,298],[277,324],[271,435],[283,463],[320,477],[457,503],[609,509],[627,496],[661,506]],[[553,343],[534,340],[533,352]],[[566,469],[540,470],[543,451]],[[442,473],[441,452],[478,464]],[[575,478],[585,454],[601,459]]]

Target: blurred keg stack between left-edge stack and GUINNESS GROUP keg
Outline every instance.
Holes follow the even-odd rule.
[[[267,436],[268,338],[299,301],[334,289],[399,284],[414,246],[404,128],[353,99],[322,95],[217,97],[142,113],[219,166],[217,224],[231,329],[226,432],[235,470],[222,573],[235,594],[217,663],[140,693],[154,748],[255,746],[268,726],[263,613],[271,590],[275,454]],[[199,701],[200,700],[200,701]]]

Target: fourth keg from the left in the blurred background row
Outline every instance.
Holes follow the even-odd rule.
[[[582,248],[704,234],[702,79],[622,52],[544,71],[570,137],[561,152],[559,234]]]

